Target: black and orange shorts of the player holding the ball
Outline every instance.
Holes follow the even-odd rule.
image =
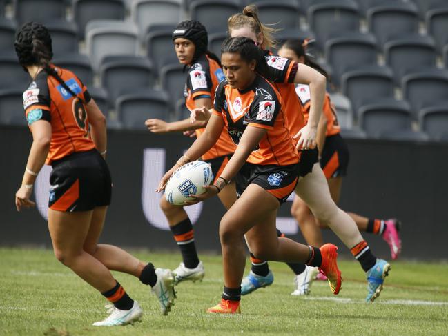
[[[257,184],[282,204],[294,191],[298,172],[299,164],[262,166],[246,162],[235,176],[237,197],[242,195],[249,184]]]

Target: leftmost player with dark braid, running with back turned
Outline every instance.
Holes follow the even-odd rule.
[[[112,192],[104,160],[106,118],[76,75],[51,63],[52,41],[43,25],[24,24],[14,47],[30,75],[23,108],[33,138],[15,196],[17,210],[35,206],[30,201],[35,179],[43,164],[51,164],[48,230],[55,256],[112,304],[110,315],[93,325],[117,326],[142,317],[142,308],[110,270],[134,275],[151,286],[165,315],[175,297],[173,273],[117,246],[97,243]]]

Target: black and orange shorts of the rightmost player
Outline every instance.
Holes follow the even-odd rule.
[[[349,148],[339,134],[331,135],[325,139],[320,166],[327,179],[347,175]]]

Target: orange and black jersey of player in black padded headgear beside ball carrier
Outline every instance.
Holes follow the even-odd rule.
[[[224,72],[215,60],[206,55],[199,57],[197,62],[189,68],[186,79],[185,105],[188,110],[193,110],[196,107],[195,99],[210,98],[213,101],[216,87],[225,78]],[[204,130],[205,128],[196,130],[196,137],[202,135]],[[215,159],[233,152],[235,152],[235,145],[228,137],[227,130],[223,129],[220,139],[208,152],[202,155],[202,159]]]

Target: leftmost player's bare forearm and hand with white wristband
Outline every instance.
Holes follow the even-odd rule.
[[[48,112],[48,111],[47,111]],[[48,112],[49,113],[49,112]],[[21,208],[35,206],[35,202],[30,201],[32,187],[35,184],[37,174],[45,164],[51,142],[51,123],[46,120],[37,120],[30,124],[32,132],[32,145],[25,172],[23,173],[22,184],[16,192],[15,204],[17,211]]]

